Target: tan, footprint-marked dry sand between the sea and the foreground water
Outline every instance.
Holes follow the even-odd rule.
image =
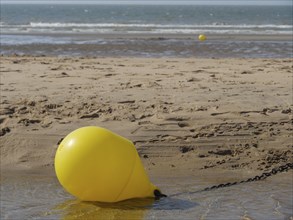
[[[292,162],[292,59],[2,56],[0,71],[2,171],[53,171],[87,125],[131,139],[154,176]]]

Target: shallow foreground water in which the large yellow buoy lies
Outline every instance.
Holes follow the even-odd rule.
[[[217,178],[215,176],[215,178]],[[196,192],[190,179],[154,181],[169,197],[116,204],[80,202],[54,175],[1,175],[1,219],[292,219],[292,171],[264,181]]]

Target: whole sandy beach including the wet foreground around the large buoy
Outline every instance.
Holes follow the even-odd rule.
[[[197,193],[292,163],[292,59],[2,56],[0,67],[4,219],[292,218],[292,170]],[[106,205],[65,192],[58,142],[89,125],[133,141],[168,197]]]

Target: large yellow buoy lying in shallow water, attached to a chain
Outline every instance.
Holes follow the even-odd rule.
[[[58,146],[55,171],[61,185],[83,201],[160,195],[133,143],[101,127],[82,127],[68,134]]]

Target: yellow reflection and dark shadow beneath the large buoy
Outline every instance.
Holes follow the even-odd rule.
[[[195,202],[176,198],[154,200],[131,199],[118,203],[82,202],[70,199],[53,208],[50,214],[60,214],[62,219],[144,219],[149,210],[187,210]]]

